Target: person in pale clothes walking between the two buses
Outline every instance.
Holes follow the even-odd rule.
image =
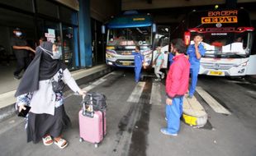
[[[154,74],[157,76],[157,79],[155,80],[161,80],[164,79],[164,72],[161,72],[161,68],[164,65],[164,53],[161,52],[161,47],[156,48],[157,53],[154,57]]]

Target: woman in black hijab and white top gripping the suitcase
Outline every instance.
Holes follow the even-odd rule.
[[[64,149],[68,142],[62,138],[62,131],[70,120],[64,110],[62,91],[53,90],[52,81],[63,80],[78,94],[80,89],[63,62],[61,52],[50,42],[43,42],[36,48],[36,57],[26,69],[15,96],[19,111],[31,106],[26,117],[27,142],[37,143],[42,138],[44,145],[58,145]],[[52,139],[54,138],[54,140]]]

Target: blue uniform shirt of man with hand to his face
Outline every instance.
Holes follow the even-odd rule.
[[[199,44],[198,50],[199,50],[199,53],[201,54],[201,56],[205,55],[206,49],[203,47],[202,44]],[[197,59],[195,44],[191,44],[188,46],[187,55],[189,56],[189,62],[191,64],[190,68],[199,68],[200,67],[200,59]]]

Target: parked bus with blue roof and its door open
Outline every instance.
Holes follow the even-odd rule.
[[[137,11],[126,11],[107,23],[107,65],[114,67],[134,67],[135,45],[145,57],[145,67],[150,67],[154,59],[156,46],[162,46],[165,57],[164,68],[168,60],[168,26],[156,26],[152,17]]]

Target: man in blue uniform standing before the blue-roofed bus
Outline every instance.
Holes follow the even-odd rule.
[[[135,81],[139,82],[140,80],[140,71],[141,71],[141,67],[143,65],[144,62],[144,57],[143,55],[140,53],[140,46],[136,46],[135,47],[135,53],[132,53],[135,56]]]

